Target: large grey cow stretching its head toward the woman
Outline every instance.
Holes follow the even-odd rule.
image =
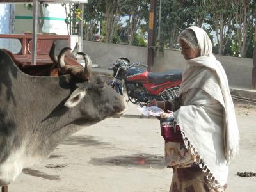
[[[124,113],[124,97],[87,70],[88,81],[29,76],[0,49],[0,186],[49,156],[77,125]]]

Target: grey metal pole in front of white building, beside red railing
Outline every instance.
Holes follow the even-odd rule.
[[[36,45],[37,45],[37,27],[38,27],[38,20],[37,20],[37,13],[38,13],[38,0],[33,0],[33,39],[32,39],[32,65],[36,65]]]

